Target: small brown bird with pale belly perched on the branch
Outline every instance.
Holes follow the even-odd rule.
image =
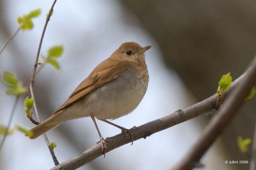
[[[109,120],[131,113],[145,96],[149,80],[145,52],[150,47],[141,47],[135,42],[122,43],[108,59],[93,69],[51,117],[30,130],[32,135],[29,138],[38,138],[68,120],[91,117],[102,150],[106,150],[106,141],[95,118],[118,127],[122,132],[129,132]]]

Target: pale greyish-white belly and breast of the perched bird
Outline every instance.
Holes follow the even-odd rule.
[[[81,99],[81,104],[74,104],[76,106],[67,112],[76,118],[93,114],[103,120],[127,115],[140,104],[147,90],[148,82],[143,81],[142,76],[127,70],[88,94]]]

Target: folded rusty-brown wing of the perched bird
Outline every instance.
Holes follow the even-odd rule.
[[[73,104],[77,100],[81,99],[81,97],[86,96],[105,83],[115,80],[120,73],[127,69],[127,66],[128,63],[127,61],[124,62],[124,60],[104,60],[101,64],[99,64],[99,66],[93,69],[88,78],[78,85],[74,92],[72,92],[72,94],[68,97],[67,101],[65,101],[65,103],[63,103],[53,114],[58,113],[59,111],[63,110],[63,108],[67,108],[70,106],[70,104]]]

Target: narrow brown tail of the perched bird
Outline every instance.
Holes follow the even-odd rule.
[[[45,132],[57,127],[61,124],[61,121],[58,121],[58,119],[58,114],[54,114],[51,117],[47,118],[47,120],[45,120],[44,122],[36,125],[36,127],[30,130],[32,132],[32,135],[29,136],[29,138],[35,139],[38,136],[44,134]]]

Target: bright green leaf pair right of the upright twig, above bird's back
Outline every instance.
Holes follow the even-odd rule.
[[[60,70],[60,65],[57,59],[61,57],[62,53],[63,53],[63,46],[61,45],[53,46],[52,48],[49,49],[47,57],[44,60],[45,62],[54,66],[55,69],[58,71]]]

